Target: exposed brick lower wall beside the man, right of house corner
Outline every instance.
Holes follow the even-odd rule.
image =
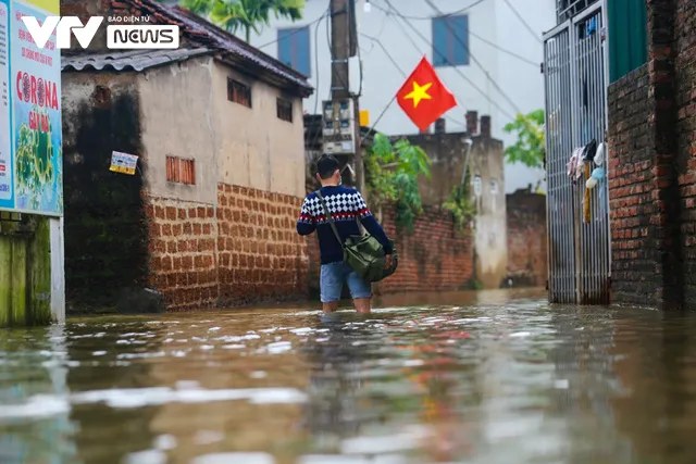
[[[217,186],[222,304],[308,293],[308,244],[295,230],[302,199]]]

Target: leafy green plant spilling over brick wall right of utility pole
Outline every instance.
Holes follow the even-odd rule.
[[[363,162],[372,208],[378,210],[385,202],[394,202],[397,227],[411,233],[415,216],[423,211],[418,180],[431,177],[431,159],[406,139],[391,143],[384,134],[375,134]]]

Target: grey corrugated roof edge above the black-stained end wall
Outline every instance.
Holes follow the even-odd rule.
[[[63,71],[83,70],[113,70],[113,71],[144,71],[149,67],[175,61],[185,61],[192,57],[212,53],[208,48],[177,49],[177,50],[127,50],[115,53],[86,54],[62,58]]]

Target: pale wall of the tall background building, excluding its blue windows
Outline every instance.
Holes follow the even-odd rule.
[[[380,10],[380,8],[387,8],[387,3],[384,1],[373,2],[372,10],[364,13],[363,3],[364,0],[360,0],[357,5],[359,28],[362,33],[359,39],[363,60],[363,98],[360,101],[360,106],[362,110],[368,110],[374,121],[401,87],[406,76],[411,73],[419,60],[423,55],[432,60],[433,36],[430,16],[437,14],[424,0],[391,2],[402,15],[417,17],[411,20],[402,20],[394,14],[387,15]],[[451,13],[473,2],[462,4],[459,0],[437,0],[435,3],[444,13]],[[472,55],[481,63],[481,67],[471,60],[468,66],[437,68],[439,77],[457,96],[459,102],[459,106],[448,113],[448,124],[451,125],[452,130],[463,130],[465,111],[476,110],[493,117],[495,124],[493,136],[502,139],[506,145],[511,145],[514,141],[513,136],[502,131],[502,127],[509,122],[510,116],[514,116],[518,110],[527,113],[544,108],[544,84],[543,75],[539,72],[539,64],[544,60],[540,37],[544,30],[556,25],[554,0],[515,0],[512,4],[535,30],[535,35],[525,28],[502,0],[477,3],[468,10],[467,14],[471,30],[469,48]],[[277,57],[277,28],[311,24],[312,70],[309,77],[316,91],[313,97],[304,100],[304,110],[309,113],[319,112],[315,111],[315,98],[325,99],[331,87],[331,66],[328,64],[331,55],[324,22],[326,20],[318,24],[327,8],[328,0],[308,0],[303,20],[296,23],[287,20],[273,20],[270,27],[251,38],[252,45],[260,47],[261,50],[273,57]],[[319,29],[315,30],[318,26]],[[316,43],[314,43],[315,37],[318,38]],[[500,49],[522,57],[525,61],[502,52]],[[315,68],[315,54],[318,54],[319,68]],[[352,60],[357,61],[358,59]],[[490,80],[486,78],[482,67],[489,74]],[[353,91],[358,91],[360,74],[357,62],[351,63],[351,88]],[[496,85],[504,90],[512,103],[501,95]],[[397,104],[393,104],[386,110],[376,128],[385,134],[418,133],[413,123]],[[508,192],[513,192],[529,184],[536,184],[537,180],[544,178],[544,173],[542,170],[529,170],[515,164],[506,166],[506,177],[509,179],[506,189]]]

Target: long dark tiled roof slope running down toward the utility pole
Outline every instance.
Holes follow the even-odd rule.
[[[182,7],[166,5],[154,0],[111,0],[111,7],[114,13],[147,14],[158,24],[178,25],[185,38],[198,47],[215,51],[251,74],[265,74],[274,81],[279,80],[296,88],[304,97],[313,91],[303,74]]]

